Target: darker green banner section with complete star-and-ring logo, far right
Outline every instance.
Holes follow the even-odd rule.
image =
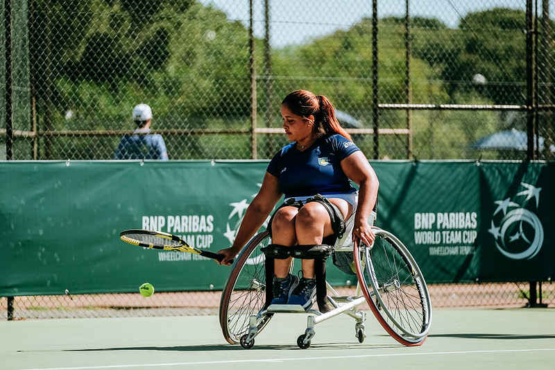
[[[484,163],[480,280],[548,281],[555,271],[555,163]]]

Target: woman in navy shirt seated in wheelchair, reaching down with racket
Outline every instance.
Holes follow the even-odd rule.
[[[368,217],[377,199],[377,176],[339,124],[332,103],[325,96],[298,90],[282,101],[281,115],[291,144],[278,151],[268,165],[262,187],[248,206],[233,245],[218,252],[225,255],[221,264],[230,264],[282,195],[285,202],[268,224],[274,245],[323,244],[326,237],[342,233],[338,225],[353,212],[352,239],[366,245],[373,243],[375,235]],[[352,183],[359,185],[359,190]],[[314,200],[316,194],[327,201]],[[309,310],[316,294],[314,260],[302,259],[300,279],[290,270],[291,257],[275,259],[272,304],[295,304]]]

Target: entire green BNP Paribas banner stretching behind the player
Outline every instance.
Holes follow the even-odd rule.
[[[230,245],[267,161],[0,162],[0,296],[221,289],[230,269],[145,250],[151,228],[199,249]],[[550,280],[555,164],[371,162],[377,226],[413,253],[428,283]],[[332,285],[355,276],[332,267]]]

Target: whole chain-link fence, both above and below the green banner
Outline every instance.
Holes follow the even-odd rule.
[[[0,159],[113,159],[120,137],[136,128],[138,103],[152,107],[152,131],[164,137],[171,160],[271,158],[287,144],[280,102],[302,88],[330,98],[370,159],[553,160],[553,6],[3,1]],[[530,287],[431,290],[443,297],[432,296],[440,307],[522,306]],[[554,290],[547,283],[540,301],[552,303]],[[215,310],[219,293],[157,297],[149,308],[181,314]],[[144,300],[107,294],[0,303],[25,312],[19,318],[89,317],[98,308],[135,312]]]

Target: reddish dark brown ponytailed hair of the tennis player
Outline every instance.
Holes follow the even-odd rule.
[[[323,95],[316,96],[307,90],[297,90],[285,96],[282,105],[287,105],[287,108],[294,114],[308,118],[310,115],[314,116],[314,131],[323,135],[330,135],[339,133],[352,141],[351,136],[341,127],[337,117],[335,117],[334,106],[330,100]]]

